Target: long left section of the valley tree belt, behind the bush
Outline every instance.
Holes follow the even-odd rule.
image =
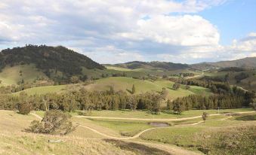
[[[132,92],[135,93],[135,87]],[[125,92],[115,92],[113,88],[107,91],[90,92],[85,89],[74,90],[67,93],[48,93],[45,95],[20,96],[0,94],[0,109],[19,110],[21,107],[30,110],[51,109],[62,111],[74,110],[116,110],[116,109],[147,109],[160,110],[163,96],[161,93],[143,93],[128,95]]]

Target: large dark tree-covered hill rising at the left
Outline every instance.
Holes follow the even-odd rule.
[[[28,45],[26,47],[14,47],[2,50],[0,53],[0,69],[6,66],[34,64],[50,76],[52,71],[60,71],[62,74],[71,76],[82,74],[82,67],[91,69],[104,69],[103,65],[94,62],[88,56],[76,53],[66,47],[49,47],[45,45]]]

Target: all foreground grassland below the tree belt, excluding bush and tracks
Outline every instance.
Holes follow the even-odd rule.
[[[221,110],[221,113],[232,111],[251,111],[251,108]],[[35,112],[40,116],[44,115],[43,111]],[[92,114],[95,114],[95,112],[93,111]],[[134,114],[136,114],[136,117],[140,117],[145,114],[143,113],[145,111],[110,112],[98,111],[98,115],[101,117],[134,117]],[[216,111],[211,110],[207,112],[209,114],[216,113]],[[202,111],[187,111],[181,117],[198,114],[202,115]],[[150,115],[147,117],[150,117]],[[165,114],[160,114],[158,117],[166,118]],[[193,126],[192,123],[202,121],[202,118],[176,121],[173,123],[174,126],[151,129],[132,141],[104,140],[102,135],[80,126],[66,136],[23,132],[24,129],[28,128],[30,122],[36,119],[31,114],[21,115],[15,111],[0,111],[0,154],[32,154],[35,152],[38,154],[169,154],[162,149],[164,146],[175,148],[172,144],[177,145],[179,149],[184,147],[188,150],[208,154],[253,154],[255,151],[255,113],[239,114],[233,117],[212,116],[208,117],[205,123],[198,123]],[[115,137],[133,136],[143,129],[153,128],[148,121],[141,120],[95,120],[72,117],[72,123],[75,125],[79,123]],[[58,139],[63,142],[48,143],[48,140]],[[141,139],[144,141],[141,141]],[[140,143],[137,143],[139,141]]]

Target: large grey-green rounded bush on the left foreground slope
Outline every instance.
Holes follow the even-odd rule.
[[[72,122],[69,121],[70,117],[69,114],[63,111],[46,111],[42,122],[38,120],[32,121],[31,126],[26,131],[51,135],[66,135],[75,129],[75,127],[72,127]]]

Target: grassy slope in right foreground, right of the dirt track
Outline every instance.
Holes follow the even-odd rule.
[[[242,114],[227,120],[206,120],[196,126],[174,126],[153,129],[140,137],[150,141],[200,150],[208,154],[254,154],[256,121],[237,120],[238,117],[256,117]]]

